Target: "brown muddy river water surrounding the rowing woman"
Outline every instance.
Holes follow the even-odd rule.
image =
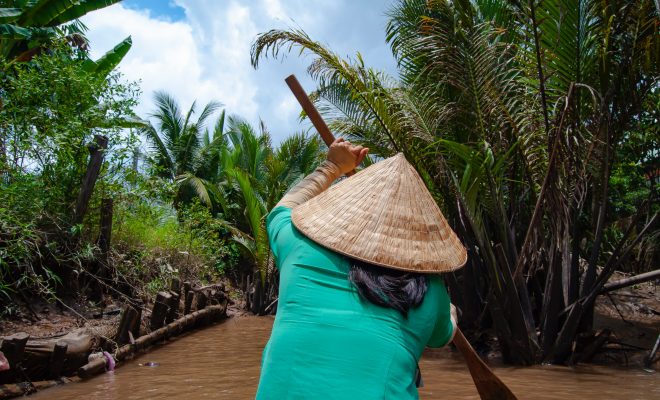
[[[33,399],[252,399],[272,318],[241,317],[194,332],[82,383],[45,390]],[[147,362],[158,366],[140,366]],[[421,362],[422,399],[478,399],[461,357],[447,352]],[[604,367],[496,368],[523,399],[660,400],[660,374]]]

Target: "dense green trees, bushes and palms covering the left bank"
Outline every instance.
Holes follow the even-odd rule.
[[[0,311],[33,294],[148,297],[176,276],[225,277],[263,313],[277,287],[264,217],[319,141],[274,148],[263,124],[161,92],[134,115],[139,88],[114,72],[130,38],[91,60],[76,19],[116,2],[0,2]]]

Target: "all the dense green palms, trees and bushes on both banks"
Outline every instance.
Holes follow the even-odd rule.
[[[77,21],[116,2],[0,0],[2,315],[16,296],[136,298],[174,276],[224,277],[272,311],[265,216],[322,145],[275,147],[263,123],[164,92],[134,115],[139,88],[115,72],[130,38],[91,60]],[[252,57],[312,53],[331,128],[417,168],[469,251],[447,276],[464,328],[492,328],[509,362],[567,362],[612,272],[658,265],[658,12],[398,0],[398,77],[299,30],[260,35]]]

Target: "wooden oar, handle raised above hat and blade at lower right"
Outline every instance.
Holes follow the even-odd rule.
[[[286,84],[293,92],[293,95],[296,97],[303,110],[314,124],[314,127],[321,135],[321,138],[326,145],[330,146],[332,142],[335,141],[335,136],[330,132],[328,125],[319,114],[312,101],[307,96],[305,90],[300,86],[298,79],[295,75],[290,75],[284,80]],[[353,175],[355,171],[351,171],[346,175]],[[516,396],[511,392],[511,390],[502,382],[493,371],[488,368],[486,363],[483,362],[476,351],[470,345],[470,342],[467,341],[463,332],[461,332],[458,327],[456,328],[456,334],[454,335],[454,345],[458,351],[463,354],[465,362],[468,365],[470,370],[470,375],[472,375],[472,380],[474,381],[479,396],[482,400],[517,400]]]

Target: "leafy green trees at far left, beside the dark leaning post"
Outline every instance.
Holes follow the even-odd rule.
[[[29,62],[0,60],[3,288],[50,294],[63,265],[79,268],[94,257],[95,237],[80,246],[68,238],[91,232],[88,222],[72,225],[72,210],[87,167],[86,144],[95,134],[110,137],[106,159],[115,167],[102,171],[92,204],[121,186],[118,171],[135,136],[121,134],[119,125],[138,91],[118,74],[89,73],[84,64],[64,39]]]

